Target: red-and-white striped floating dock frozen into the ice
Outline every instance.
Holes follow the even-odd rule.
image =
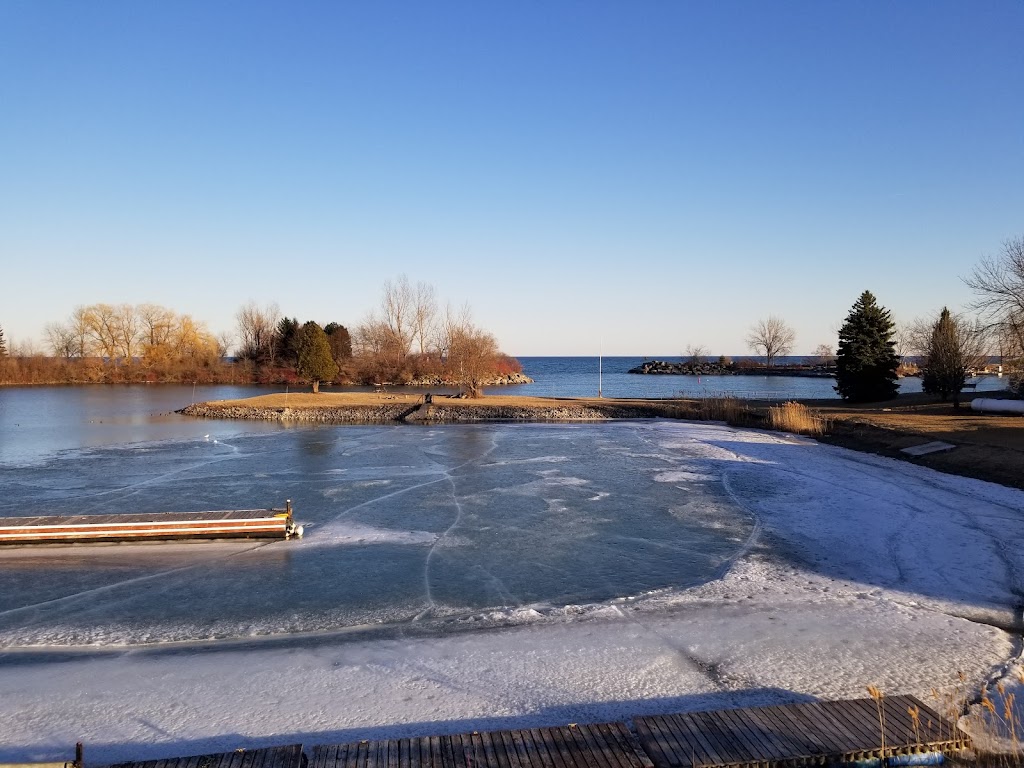
[[[189,539],[291,539],[302,536],[284,509],[154,512],[124,515],[0,517],[0,544],[74,544]]]

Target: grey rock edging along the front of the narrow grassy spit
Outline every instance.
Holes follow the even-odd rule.
[[[570,403],[557,406],[458,406],[408,403],[382,406],[324,406],[310,408],[266,408],[220,406],[197,402],[175,413],[200,419],[243,419],[307,424],[464,424],[473,422],[519,421],[606,421],[608,419],[651,419],[672,415],[665,404]]]

